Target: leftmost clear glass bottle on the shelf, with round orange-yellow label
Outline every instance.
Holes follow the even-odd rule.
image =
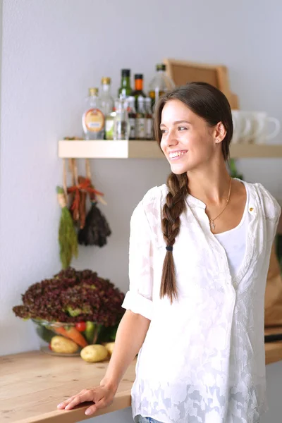
[[[85,99],[85,112],[82,115],[82,128],[85,140],[104,140],[105,118],[98,88],[90,88]]]

